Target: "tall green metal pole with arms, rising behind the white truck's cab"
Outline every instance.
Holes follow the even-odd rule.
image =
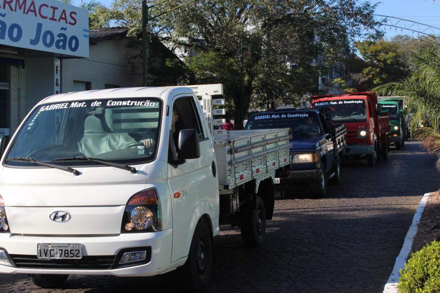
[[[185,2],[183,4],[175,6],[174,8],[171,8],[171,9],[165,11],[165,12],[159,13],[159,14],[153,16],[153,17],[148,18],[148,9],[150,9],[150,8],[152,8],[154,6],[160,5],[160,4],[162,4],[164,2],[167,2],[167,1],[169,1],[169,0],[163,0],[163,1],[160,1],[160,2],[157,2],[157,3],[153,4],[153,5],[148,6],[146,4],[146,0],[142,0],[142,56],[143,56],[143,58],[142,58],[143,59],[143,61],[142,61],[142,68],[143,68],[143,86],[147,85],[146,73],[147,73],[147,68],[148,68],[148,66],[147,66],[147,60],[148,60],[148,21],[150,21],[152,19],[155,19],[155,18],[157,18],[157,17],[159,17],[159,16],[161,16],[163,14],[169,13],[169,12],[171,12],[173,10],[179,9],[180,7],[185,6],[187,4],[190,4],[192,2],[195,2],[196,0],[190,0],[188,2]]]

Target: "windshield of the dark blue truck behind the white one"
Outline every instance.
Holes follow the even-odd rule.
[[[283,112],[251,116],[245,129],[287,128],[293,134],[320,134],[319,120],[314,112]]]

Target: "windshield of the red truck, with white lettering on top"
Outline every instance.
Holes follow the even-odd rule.
[[[334,122],[363,122],[366,121],[366,106],[363,99],[341,99],[318,101],[314,107],[329,107]]]

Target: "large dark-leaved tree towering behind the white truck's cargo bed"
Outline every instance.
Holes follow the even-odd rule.
[[[183,2],[165,2],[160,11]],[[225,87],[239,127],[251,103],[298,103],[304,94],[315,92],[318,74],[351,52],[363,27],[373,29],[374,7],[355,0],[197,0],[161,18],[156,30],[175,46],[215,52],[204,56],[212,57],[208,63],[218,56],[233,60],[225,64],[228,69],[193,68],[203,73],[193,76],[220,76],[238,66],[239,80]]]

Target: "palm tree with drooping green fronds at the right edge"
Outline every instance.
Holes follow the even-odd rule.
[[[405,96],[413,112],[410,129],[428,151],[440,154],[440,44],[429,41],[413,58],[413,72],[398,82],[372,89],[379,95]],[[418,125],[427,127],[416,129]],[[437,160],[440,169],[440,159]]]

